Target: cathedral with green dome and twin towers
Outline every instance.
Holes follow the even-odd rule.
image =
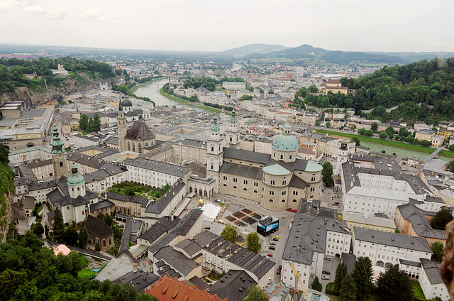
[[[299,141],[287,122],[272,141],[272,154],[239,149],[235,111],[226,136],[214,117],[206,150],[206,175],[215,180],[214,191],[259,202],[272,211],[297,209],[299,199],[319,199],[321,165],[299,158]],[[227,148],[222,148],[226,138]]]

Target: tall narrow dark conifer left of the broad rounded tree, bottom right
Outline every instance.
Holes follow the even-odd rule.
[[[370,258],[358,258],[352,274],[356,288],[358,288],[358,299],[365,300],[374,291],[373,275],[372,261],[370,261]]]

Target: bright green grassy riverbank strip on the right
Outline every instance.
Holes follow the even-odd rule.
[[[416,151],[419,153],[433,153],[436,148],[430,148],[426,146],[418,146],[415,144],[410,144],[410,143],[404,143],[404,142],[399,142],[399,141],[394,141],[394,140],[389,140],[389,139],[380,139],[380,138],[373,138],[373,137],[367,137],[367,136],[362,136],[362,135],[355,135],[353,133],[340,133],[336,131],[328,131],[328,130],[322,130],[322,129],[316,129],[317,133],[327,133],[328,135],[334,135],[334,136],[339,136],[339,137],[348,137],[348,138],[358,138],[360,141],[368,142],[368,143],[375,143],[375,144],[381,144],[383,146],[390,146],[393,148],[402,148],[406,149],[409,151]],[[441,151],[439,155],[443,155],[444,157],[448,158],[454,158],[454,152],[452,151]]]

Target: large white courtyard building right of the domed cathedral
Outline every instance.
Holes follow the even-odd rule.
[[[430,194],[419,177],[403,173],[389,158],[353,155],[342,164],[344,210],[386,214],[395,219],[397,206],[410,199],[423,202]]]

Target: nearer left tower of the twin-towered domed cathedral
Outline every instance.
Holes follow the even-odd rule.
[[[219,192],[219,170],[222,165],[221,128],[218,125],[218,117],[214,116],[210,127],[210,136],[206,143],[206,175],[216,181],[214,193]]]

